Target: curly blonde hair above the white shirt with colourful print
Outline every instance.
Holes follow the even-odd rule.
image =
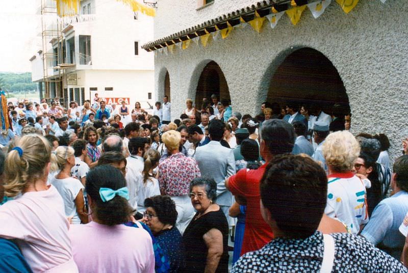
[[[349,131],[337,131],[327,136],[322,151],[327,166],[336,172],[347,172],[360,155],[360,145]]]

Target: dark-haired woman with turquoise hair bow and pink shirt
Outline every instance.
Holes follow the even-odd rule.
[[[110,165],[95,167],[86,176],[86,192],[92,221],[69,229],[79,271],[154,272],[150,235],[142,228],[123,225],[132,208],[121,172]]]

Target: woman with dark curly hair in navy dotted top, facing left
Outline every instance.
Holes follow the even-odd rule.
[[[180,272],[184,268],[184,248],[182,235],[175,227],[177,210],[174,201],[169,196],[153,196],[144,200],[146,211],[143,222],[160,244],[164,255],[167,256],[170,269],[168,272]]]

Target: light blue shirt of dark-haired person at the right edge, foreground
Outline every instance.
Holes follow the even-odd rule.
[[[374,245],[381,243],[386,248],[395,249],[395,252],[389,254],[399,260],[405,243],[405,237],[399,232],[399,226],[404,221],[406,211],[408,193],[401,190],[379,202],[361,235]],[[388,252],[387,249],[384,250]]]

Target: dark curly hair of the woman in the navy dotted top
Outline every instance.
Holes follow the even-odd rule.
[[[167,195],[148,197],[144,200],[144,207],[152,207],[159,218],[159,221],[166,225],[175,225],[177,220],[177,210],[175,209],[175,203]]]

